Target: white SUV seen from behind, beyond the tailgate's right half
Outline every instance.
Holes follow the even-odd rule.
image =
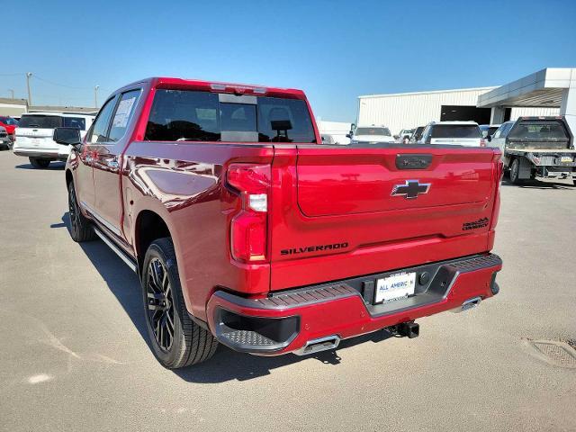
[[[485,147],[486,141],[475,121],[432,121],[419,139],[421,144]]]

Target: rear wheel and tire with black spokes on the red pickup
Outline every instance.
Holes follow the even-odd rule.
[[[171,238],[154,240],[144,258],[141,285],[152,352],[167,369],[208,360],[218,341],[188,315]]]

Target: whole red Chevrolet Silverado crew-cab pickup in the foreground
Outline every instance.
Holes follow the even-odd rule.
[[[138,272],[168,368],[220,342],[272,356],[465,310],[498,293],[498,148],[322,144],[300,90],[149,78],[67,160],[70,232]]]

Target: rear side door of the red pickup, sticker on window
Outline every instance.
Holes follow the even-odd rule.
[[[94,146],[94,190],[96,211],[100,222],[118,238],[121,233],[121,153],[130,139],[126,133],[140,89],[130,90],[118,96],[114,103],[110,124],[102,140]]]

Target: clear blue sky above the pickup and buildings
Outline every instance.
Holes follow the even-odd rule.
[[[30,71],[37,104],[93,105],[94,85],[102,103],[141,77],[181,76],[302,88],[318,117],[354,121],[360,94],[576,67],[572,0],[16,3],[11,20],[26,25],[3,32],[0,96],[25,97]]]

